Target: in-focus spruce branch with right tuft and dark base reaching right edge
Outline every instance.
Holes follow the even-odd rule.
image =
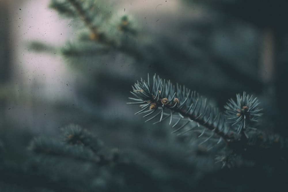
[[[236,102],[233,99],[229,100],[224,106],[226,109],[226,115],[224,116],[218,109],[207,104],[206,99],[203,99],[196,92],[190,91],[185,86],[181,88],[178,84],[175,90],[175,86],[170,81],[165,82],[165,79],[162,81],[156,74],[153,77],[153,85],[149,83],[148,74],[147,81],[141,79],[132,88],[133,92],[131,93],[136,98],[130,99],[136,102],[128,104],[141,104],[142,109],[135,114],[147,113],[144,117],[151,115],[152,117],[146,121],[160,116],[160,120],[156,123],[164,119],[170,119],[169,124],[171,124],[173,117],[176,116],[177,121],[175,124],[173,123],[172,127],[178,125],[181,119],[186,122],[173,133],[188,127],[188,123],[191,122],[192,128],[188,128],[184,133],[193,131],[200,126],[203,131],[198,137],[202,136],[205,130],[212,132],[200,144],[207,142],[214,135],[220,137],[218,143],[223,139],[230,149],[225,149],[225,155],[216,158],[218,162],[222,161],[223,166],[231,167],[234,165],[235,154],[249,161],[252,160],[253,163],[258,163],[260,160],[262,163],[270,164],[271,159],[265,158],[267,154],[273,154],[274,160],[278,159],[279,162],[277,161],[277,163],[273,161],[273,163],[276,163],[274,165],[286,164],[285,162],[288,160],[286,155],[288,149],[287,139],[281,138],[279,135],[266,136],[262,131],[256,129],[254,123],[258,122],[262,115],[260,113],[262,109],[257,107],[259,105],[257,98],[247,95],[246,92],[243,92],[242,96],[237,94]],[[168,109],[168,113],[164,112],[165,109]],[[156,115],[154,115],[155,112]],[[174,113],[177,113],[177,115]],[[196,125],[194,122],[196,122]]]

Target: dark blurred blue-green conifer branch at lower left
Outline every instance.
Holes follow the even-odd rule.
[[[116,153],[110,154],[109,157],[101,153],[103,143],[82,127],[70,124],[62,131],[62,140],[35,138],[31,142],[30,149],[46,155],[92,161],[99,166],[117,159]]]

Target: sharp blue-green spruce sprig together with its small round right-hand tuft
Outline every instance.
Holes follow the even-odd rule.
[[[135,114],[147,113],[143,117],[151,117],[146,121],[160,116],[159,121],[155,123],[169,118],[169,124],[171,124],[173,119],[176,118],[177,120],[173,123],[173,128],[181,120],[184,120],[185,122],[172,133],[183,129],[188,123],[192,122],[192,128],[182,133],[191,131],[196,127],[202,128],[200,136],[206,130],[212,131],[211,135],[204,142],[218,135],[220,136],[218,142],[224,139],[236,147],[246,145],[249,137],[245,133],[245,130],[253,128],[255,122],[262,115],[259,113],[262,109],[258,109],[259,101],[257,98],[247,95],[246,92],[243,92],[242,96],[237,94],[236,102],[230,99],[224,106],[226,112],[223,115],[217,108],[208,104],[207,99],[199,96],[197,92],[178,84],[175,86],[170,80],[162,80],[156,74],[153,77],[153,84],[150,85],[148,74],[147,81],[141,78],[141,81],[137,81],[132,88],[133,91],[131,93],[134,98],[130,99],[135,102],[128,104],[140,104],[141,107],[141,110]],[[166,109],[168,109],[168,113]],[[156,114],[154,115],[154,113]],[[231,123],[232,120],[234,121]],[[228,134],[229,130],[232,133]]]

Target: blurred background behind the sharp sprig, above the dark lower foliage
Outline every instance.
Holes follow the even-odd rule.
[[[264,108],[260,129],[287,137],[284,1],[73,2],[0,1],[0,140],[9,158],[69,123],[118,149],[179,151],[167,124],[144,123],[139,106],[126,104],[147,73],[220,111],[237,93],[253,94]]]

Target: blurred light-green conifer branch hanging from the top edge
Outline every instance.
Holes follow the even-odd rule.
[[[53,0],[51,2],[51,8],[70,18],[80,19],[85,28],[89,30],[82,30],[77,45],[64,47],[63,54],[73,57],[75,54],[76,56],[80,54],[95,56],[106,54],[112,49],[128,54],[131,52],[139,54],[139,50],[135,52],[134,48],[131,50],[130,45],[127,45],[128,41],[132,42],[132,46],[137,44],[133,38],[137,30],[126,15],[122,17],[113,15],[111,13],[113,6],[106,4],[107,2],[104,1],[79,0]],[[79,45],[79,43],[81,44]]]

